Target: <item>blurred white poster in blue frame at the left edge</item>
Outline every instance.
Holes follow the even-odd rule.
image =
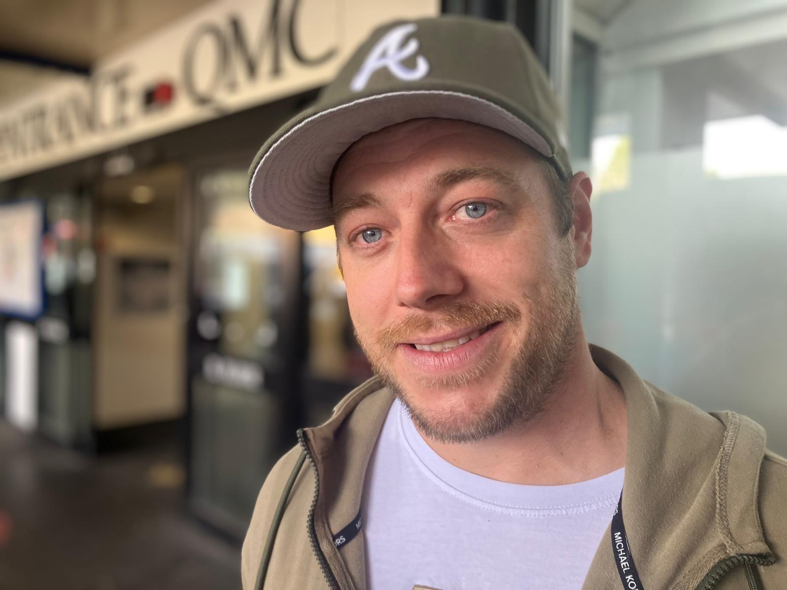
[[[43,312],[39,201],[0,205],[0,314],[37,319]]]

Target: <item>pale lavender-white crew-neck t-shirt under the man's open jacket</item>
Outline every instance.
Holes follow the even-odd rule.
[[[571,485],[471,474],[435,453],[396,400],[364,484],[369,588],[577,590],[621,489],[623,469]]]

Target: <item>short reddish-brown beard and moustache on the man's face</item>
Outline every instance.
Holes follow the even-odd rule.
[[[412,341],[416,335],[436,327],[490,326],[498,322],[513,328],[521,326],[522,314],[515,304],[456,301],[428,315],[405,316],[379,334],[357,330],[356,336],[375,373],[401,400],[424,436],[441,443],[483,441],[514,425],[524,424],[543,411],[574,352],[579,334],[579,311],[574,250],[569,244],[560,245],[558,264],[549,283],[538,289],[538,294],[523,297],[530,308],[527,336],[519,343],[497,396],[491,404],[480,409],[473,406],[473,400],[463,398],[459,390],[499,366],[496,350],[487,353],[469,371],[419,379],[423,389],[457,390],[454,405],[466,411],[457,411],[456,407],[442,411],[419,407],[391,371],[390,360],[402,342]]]

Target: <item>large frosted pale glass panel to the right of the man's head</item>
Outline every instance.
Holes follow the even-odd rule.
[[[750,415],[785,454],[787,40],[731,46],[742,33],[669,20],[600,51],[586,331],[664,389]]]

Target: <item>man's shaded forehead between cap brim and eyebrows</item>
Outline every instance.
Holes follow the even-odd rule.
[[[369,183],[416,182],[446,168],[498,168],[527,178],[537,168],[530,149],[501,131],[467,121],[416,119],[360,138],[334,169],[334,203]]]

